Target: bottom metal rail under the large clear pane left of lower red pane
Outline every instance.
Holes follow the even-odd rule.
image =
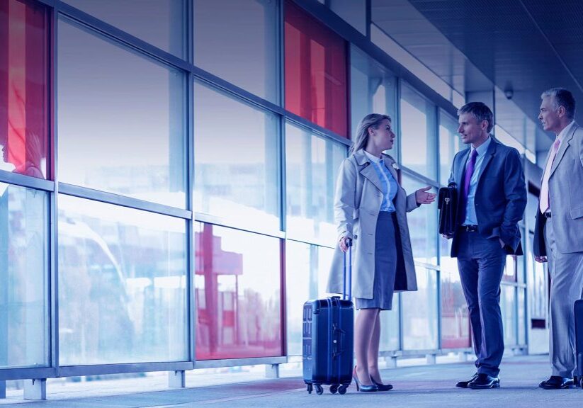
[[[121,363],[96,365],[64,365],[60,367],[60,377],[77,377],[79,375],[146,373],[148,371],[183,371],[192,370],[192,361]]]

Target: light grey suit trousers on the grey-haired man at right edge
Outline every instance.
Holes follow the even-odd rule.
[[[550,273],[550,366],[553,375],[572,378],[576,361],[573,307],[575,300],[583,298],[583,252],[560,252],[553,218],[545,223],[545,246]]]

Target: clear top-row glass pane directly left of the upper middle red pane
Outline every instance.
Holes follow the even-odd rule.
[[[194,63],[279,103],[278,1],[194,0]]]

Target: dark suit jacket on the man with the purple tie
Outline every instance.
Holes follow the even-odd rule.
[[[462,177],[470,148],[455,154],[449,183],[458,186],[458,211],[461,211]],[[506,254],[522,255],[518,222],[526,208],[526,183],[519,152],[492,137],[478,175],[475,211],[478,232],[483,237],[502,239]],[[458,217],[459,219],[459,217]],[[458,234],[453,235],[451,256],[458,255]]]

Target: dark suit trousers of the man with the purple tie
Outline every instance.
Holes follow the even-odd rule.
[[[498,238],[486,239],[479,232],[458,234],[458,268],[470,311],[475,365],[478,373],[497,376],[504,354],[500,282],[506,253]]]

